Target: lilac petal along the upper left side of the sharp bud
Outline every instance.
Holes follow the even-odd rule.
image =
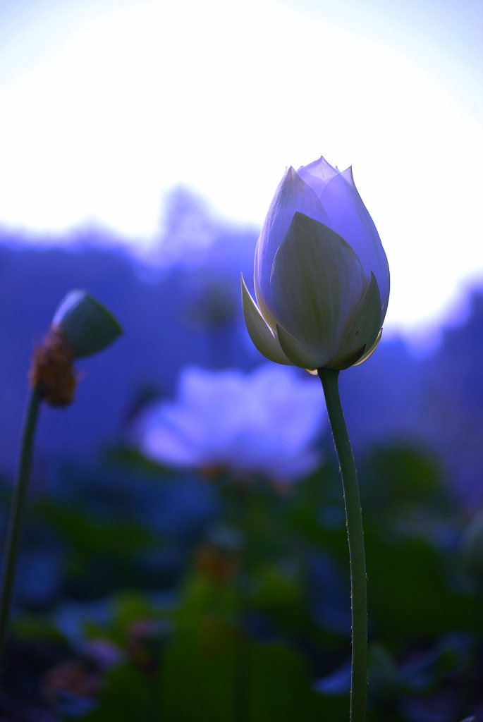
[[[256,300],[262,316],[272,329],[275,329],[275,319],[270,290],[271,266],[295,211],[305,213],[322,223],[328,222],[316,193],[293,168],[289,168],[275,191],[255,251]]]

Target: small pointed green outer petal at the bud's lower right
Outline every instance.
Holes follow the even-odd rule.
[[[338,360],[354,357],[354,354],[373,347],[380,331],[380,293],[378,282],[371,271],[370,283],[355,312],[352,323],[347,331],[344,343],[338,354]],[[359,357],[360,358],[360,357]],[[358,359],[357,359],[358,360]],[[336,364],[334,364],[336,365]],[[350,364],[352,365],[352,364]]]

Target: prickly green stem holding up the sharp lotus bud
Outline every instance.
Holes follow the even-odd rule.
[[[359,484],[357,484],[354,456],[352,456],[352,448],[339,396],[339,371],[320,368],[318,375],[322,381],[328,420],[331,423],[336,452],[337,456],[339,456],[346,508],[352,599],[350,720],[351,722],[365,722],[367,697],[367,578]]]

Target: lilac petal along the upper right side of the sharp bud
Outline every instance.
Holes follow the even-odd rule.
[[[373,271],[380,291],[383,318],[389,300],[389,267],[373,219],[354,185],[352,168],[328,181],[321,195],[329,217],[328,225],[339,233],[357,253],[367,281]]]

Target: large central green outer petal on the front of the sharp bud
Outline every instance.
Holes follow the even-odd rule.
[[[279,325],[331,362],[366,287],[364,269],[344,238],[295,213],[271,272]]]

